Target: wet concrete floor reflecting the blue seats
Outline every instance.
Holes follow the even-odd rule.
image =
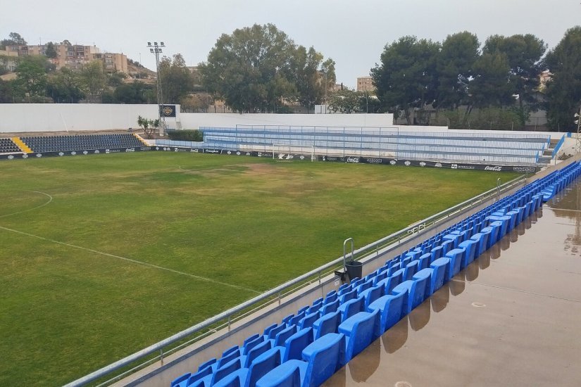
[[[323,386],[581,386],[575,183]]]

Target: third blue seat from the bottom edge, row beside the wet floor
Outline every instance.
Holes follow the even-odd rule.
[[[379,310],[359,312],[339,324],[339,334],[344,334],[346,338],[344,364],[350,362],[373,341],[376,317],[379,317]]]

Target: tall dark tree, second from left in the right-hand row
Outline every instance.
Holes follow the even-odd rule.
[[[478,37],[468,31],[448,35],[437,56],[436,106],[455,109],[468,99],[472,66],[480,56]]]

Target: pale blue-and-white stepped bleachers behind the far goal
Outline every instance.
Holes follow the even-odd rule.
[[[270,151],[314,147],[328,156],[372,156],[468,163],[535,164],[546,134],[400,132],[393,128],[202,127],[204,147]]]

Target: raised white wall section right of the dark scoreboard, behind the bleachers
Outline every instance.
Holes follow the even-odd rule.
[[[180,113],[183,129],[236,125],[393,127],[392,114],[216,114]]]

